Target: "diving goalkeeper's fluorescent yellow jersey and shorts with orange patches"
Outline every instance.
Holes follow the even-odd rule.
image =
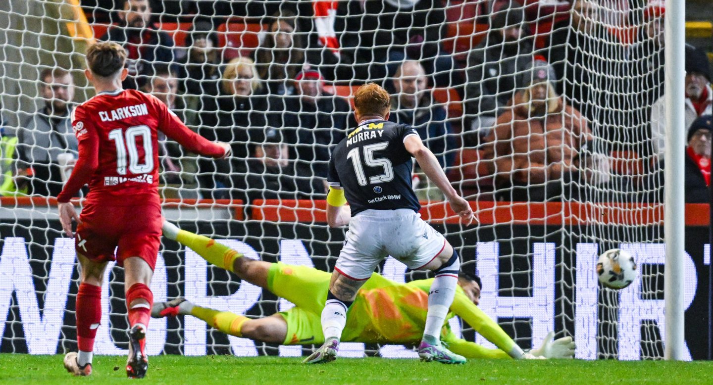
[[[268,275],[268,287],[279,297],[296,306],[281,314],[287,321],[285,344],[322,343],[319,314],[327,300],[330,274],[305,266],[273,264]],[[421,341],[428,312],[429,288],[433,279],[421,279],[406,284],[374,274],[364,284],[347,313],[343,342],[380,344],[417,344]],[[466,356],[503,358],[515,348],[515,342],[496,322],[457,288],[446,319],[458,315],[499,349],[458,339],[448,322],[443,325],[441,339],[451,350]]]

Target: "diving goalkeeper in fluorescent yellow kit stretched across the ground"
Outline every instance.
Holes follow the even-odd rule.
[[[191,315],[210,326],[235,337],[284,345],[322,344],[320,314],[327,296],[331,274],[314,267],[270,263],[243,257],[239,252],[220,245],[208,237],[179,230],[170,222],[163,222],[163,235],[190,247],[207,262],[237,274],[240,279],[270,290],[295,306],[286,312],[269,317],[250,319],[240,314],[199,307],[177,298],[153,304],[153,317]],[[426,323],[429,287],[433,279],[421,279],[406,284],[396,283],[374,274],[364,284],[349,312],[344,342],[377,344],[418,344]],[[543,359],[572,358],[572,337],[553,341],[548,334],[540,349],[525,353],[501,327],[476,307],[480,288],[473,277],[459,277],[459,287],[451,305],[451,314],[458,315],[481,336],[499,349],[488,349],[459,339],[451,332],[448,322],[441,329],[441,339],[448,349],[466,358],[484,359]],[[462,287],[466,287],[464,290]]]

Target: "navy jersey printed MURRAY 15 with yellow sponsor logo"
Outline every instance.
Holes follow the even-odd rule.
[[[414,128],[387,120],[359,125],[332,150],[327,182],[344,188],[352,216],[364,210],[421,209],[411,185],[413,161],[404,140]]]

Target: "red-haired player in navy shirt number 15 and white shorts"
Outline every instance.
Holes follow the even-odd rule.
[[[443,347],[440,340],[458,286],[458,253],[419,216],[421,206],[411,186],[411,157],[416,158],[453,211],[468,224],[473,221],[473,210],[451,187],[416,130],[387,120],[389,106],[389,93],[384,88],[375,83],[361,86],[354,95],[354,116],[359,127],[332,150],[327,175],[327,222],[331,227],[349,223],[349,231],[322,311],[324,344],[304,359],[305,363],[337,358],[339,339],[356,292],[389,255],[411,269],[436,273],[419,345],[421,360],[447,364],[466,361]],[[344,205],[347,202],[349,206]]]

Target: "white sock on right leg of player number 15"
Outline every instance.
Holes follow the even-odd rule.
[[[446,322],[448,309],[453,303],[453,296],[456,295],[460,267],[458,253],[453,250],[451,259],[436,270],[436,278],[429,290],[429,312],[426,314],[424,328],[426,342],[433,344],[433,341],[440,341],[443,323]]]

